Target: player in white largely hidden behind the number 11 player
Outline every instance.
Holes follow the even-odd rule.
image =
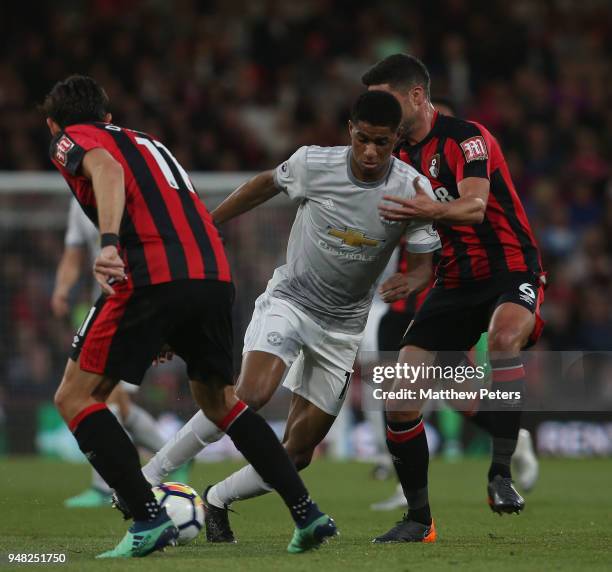
[[[64,252],[58,264],[55,288],[51,296],[51,309],[57,318],[65,318],[70,312],[70,291],[79,280],[82,269],[93,265],[100,250],[100,233],[87,218],[76,199],[70,202],[68,225],[64,238]],[[96,285],[92,292],[95,300],[100,294]],[[108,399],[109,409],[121,421],[133,441],[155,453],[164,445],[155,419],[142,407],[132,403],[129,394],[138,391],[138,386],[122,382]],[[64,501],[67,508],[95,508],[108,506],[112,490],[104,479],[92,469],[89,488]]]

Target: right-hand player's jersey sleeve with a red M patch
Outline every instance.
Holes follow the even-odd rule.
[[[491,174],[492,136],[481,125],[462,121],[446,140],[446,162],[457,183],[467,177],[488,179]]]

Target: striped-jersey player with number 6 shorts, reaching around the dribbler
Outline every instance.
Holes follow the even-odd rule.
[[[496,512],[519,512],[510,459],[520,428],[524,369],[520,351],[542,328],[543,272],[538,247],[499,143],[478,123],[439,114],[431,104],[427,68],[404,54],[387,57],[362,81],[393,94],[403,110],[399,156],[431,182],[437,201],[420,190],[412,200],[386,197],[388,220],[433,219],[442,240],[436,283],[402,340],[400,362],[433,363],[434,352],[461,355],[488,331],[493,391],[493,461],[488,495]],[[400,381],[401,383],[401,381]],[[422,404],[387,404],[387,444],[409,510],[377,542],[435,539],[427,491],[428,450]],[[482,412],[485,415],[486,412]]]

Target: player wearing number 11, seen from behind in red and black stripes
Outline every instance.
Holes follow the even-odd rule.
[[[187,363],[208,419],[289,507],[304,549],[335,533],[272,429],[233,391],[234,286],[223,245],[185,170],[159,141],[111,123],[91,78],[57,83],[42,110],[51,160],[101,234],[94,275],[103,294],[77,332],[55,403],[81,451],[134,518],[104,558],[146,556],[178,530],[145,480],[138,453],[105,400],[140,384],[164,345]]]

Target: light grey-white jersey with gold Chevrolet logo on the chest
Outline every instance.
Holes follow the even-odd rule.
[[[287,263],[268,290],[333,331],[359,333],[375,284],[402,235],[410,252],[433,252],[440,239],[430,222],[389,222],[378,205],[384,195],[414,196],[413,181],[435,200],[429,181],[391,158],[374,182],[356,179],[350,147],[308,146],[276,168],[276,186],[299,203],[287,246]]]

